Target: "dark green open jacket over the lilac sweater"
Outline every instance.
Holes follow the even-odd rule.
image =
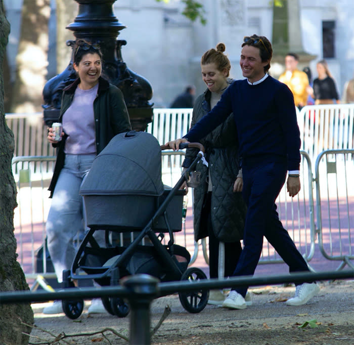
[[[62,103],[60,108],[59,122],[62,122],[63,114],[71,105],[75,90],[80,79],[76,79],[63,91]],[[94,101],[95,114],[95,133],[96,133],[96,154],[99,154],[110,140],[119,133],[131,130],[129,114],[125,106],[122,92],[110,84],[106,79],[99,78],[99,86],[96,99]],[[53,196],[54,188],[65,162],[64,146],[67,136],[57,143],[57,160],[53,172],[53,178],[48,190]]]

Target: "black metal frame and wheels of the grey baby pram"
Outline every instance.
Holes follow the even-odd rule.
[[[95,231],[106,230],[106,246],[109,243],[108,233],[112,231],[112,229],[102,229],[102,228],[90,228],[89,232],[86,234],[84,239],[82,240],[77,253],[75,255],[74,261],[72,263],[71,270],[63,271],[63,287],[74,287],[74,281],[80,281],[82,279],[93,279],[98,282],[100,285],[118,285],[119,279],[122,278],[120,276],[120,269],[124,263],[126,263],[131,256],[135,253],[138,246],[142,242],[142,240],[147,236],[153,248],[156,250],[157,255],[164,263],[165,266],[168,267],[168,280],[163,281],[179,281],[179,280],[199,280],[206,279],[205,273],[199,268],[188,268],[188,264],[190,261],[190,255],[188,254],[186,265],[179,265],[176,260],[173,260],[173,246],[174,244],[174,235],[173,231],[169,225],[168,218],[166,215],[167,205],[170,203],[172,198],[176,193],[181,193],[181,186],[185,181],[187,181],[189,174],[191,171],[195,169],[198,161],[203,157],[204,147],[199,143],[182,143],[180,145],[180,149],[185,149],[188,147],[198,148],[199,153],[192,164],[187,168],[182,174],[179,181],[175,184],[175,186],[168,192],[164,201],[158,207],[157,211],[154,213],[152,219],[149,223],[144,227],[143,230],[140,231],[138,236],[127,246],[120,247],[122,250],[118,257],[115,259],[113,263],[110,264],[110,267],[84,267],[80,265],[80,260],[83,256],[85,249],[87,248],[87,244],[90,244],[91,248],[100,249],[102,247],[99,246],[93,234]],[[161,146],[161,150],[169,149],[168,146]],[[184,193],[185,194],[185,193]],[[167,226],[167,230],[169,233],[169,241],[167,245],[161,243],[163,238],[163,233],[159,233],[156,235],[154,228],[157,220],[163,216],[165,224]],[[167,231],[166,231],[167,232]],[[117,247],[115,247],[117,248]],[[103,248],[102,248],[103,249]],[[177,248],[176,248],[177,249]],[[93,274],[77,274],[78,269],[87,272],[93,272]],[[97,273],[99,272],[99,273]],[[161,297],[162,294],[156,297]],[[182,306],[190,313],[199,313],[202,311],[208,301],[209,298],[209,290],[201,289],[200,291],[191,291],[191,292],[180,292],[179,293],[180,301]],[[129,313],[129,306],[126,304],[124,300],[118,297],[102,297],[103,305],[105,309],[112,315],[117,315],[118,317],[125,317]],[[62,301],[63,311],[67,317],[71,319],[78,318],[83,310],[83,299],[75,299],[75,300],[63,300]]]

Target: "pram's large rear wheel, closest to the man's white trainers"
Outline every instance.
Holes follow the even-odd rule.
[[[196,267],[187,269],[181,277],[181,280],[197,281],[206,279],[205,273]],[[189,313],[201,312],[208,303],[209,290],[200,289],[191,292],[179,292],[182,307]]]

